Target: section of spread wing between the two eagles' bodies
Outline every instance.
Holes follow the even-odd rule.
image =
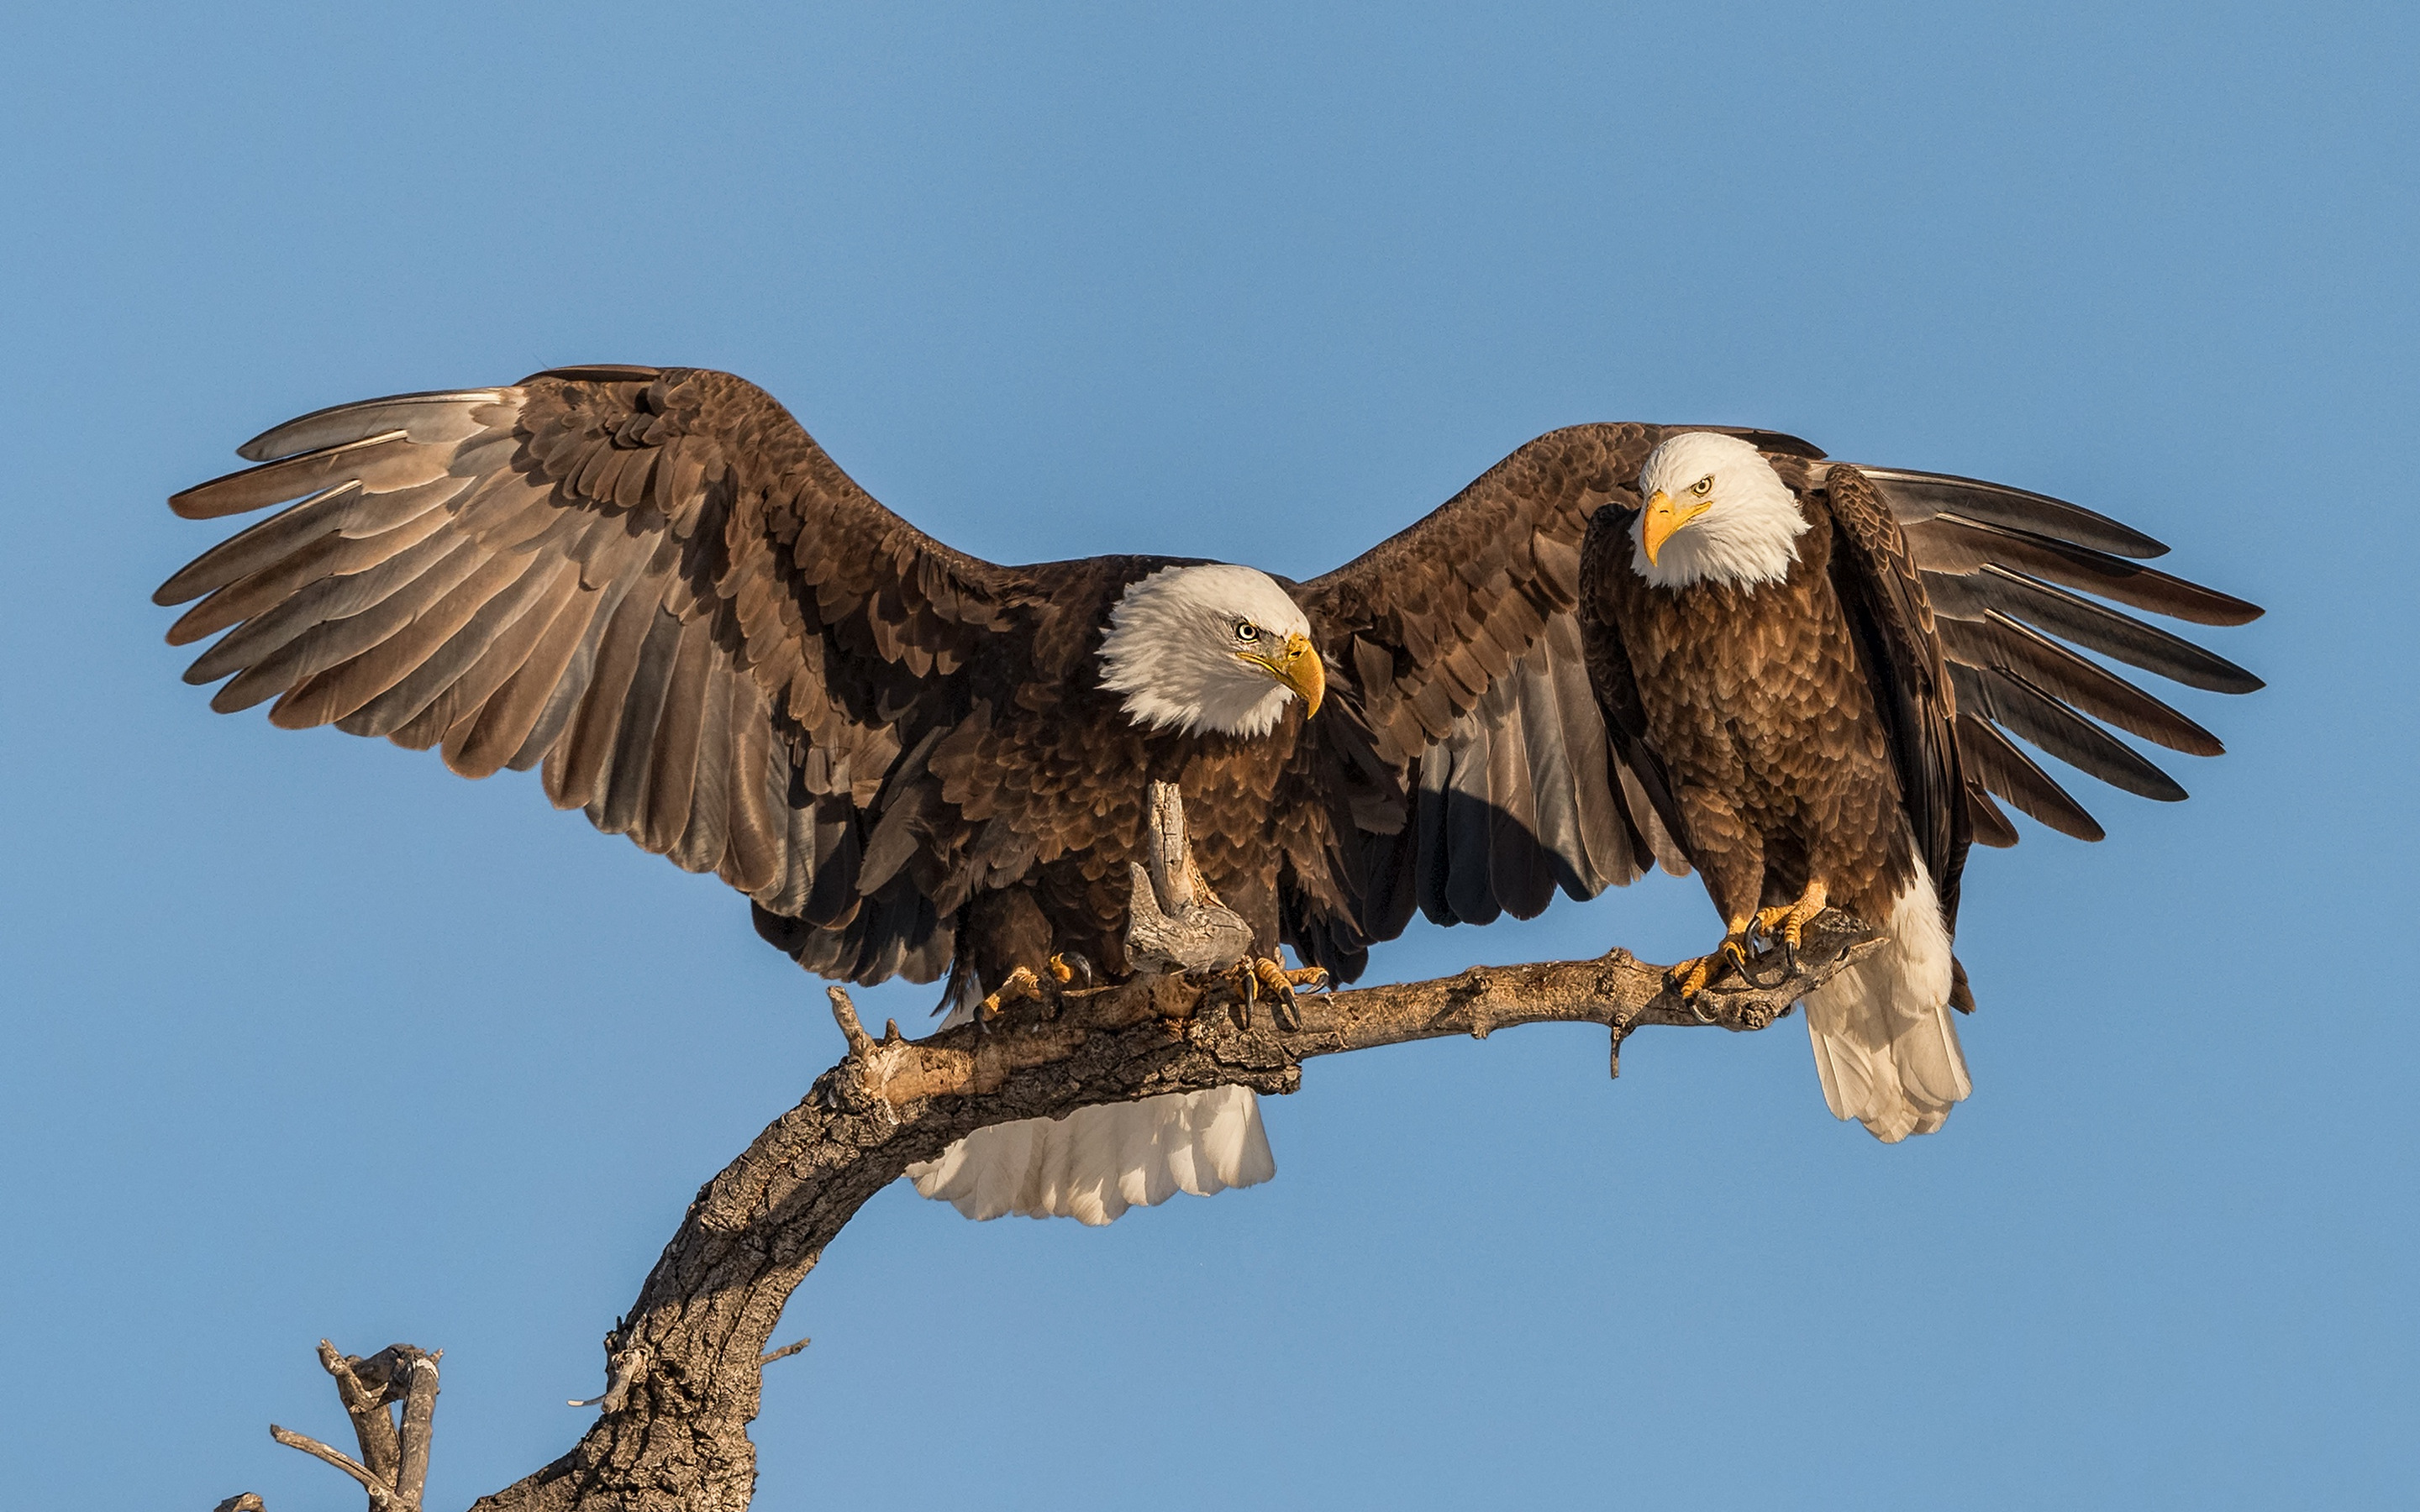
[[[1331,702],[1280,793],[1285,929],[1350,977],[1413,907],[1532,917],[1658,859],[1684,868],[1607,743],[1573,614],[1588,518],[1653,426],[1522,445],[1418,525],[1300,588]]]

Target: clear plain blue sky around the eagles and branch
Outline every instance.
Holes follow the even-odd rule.
[[[690,1195],[842,1045],[530,777],[223,719],[162,498],[286,416],[716,365],[999,561],[1312,576],[1571,421],[1989,477],[2270,605],[2231,755],[1977,852],[1975,1098],[1805,1033],[1314,1062],[1113,1229],[893,1188],[762,1507],[2420,1500],[2408,7],[17,7],[0,46],[0,1461],[353,1505],[312,1362],[445,1350],[431,1505],[566,1449]],[[2021,820],[2023,823],[2023,820]],[[1711,943],[1696,881],[1375,977]],[[922,1021],[891,987],[871,1018]]]

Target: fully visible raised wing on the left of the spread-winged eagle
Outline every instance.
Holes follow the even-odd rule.
[[[155,595],[201,598],[169,644],[227,631],[186,673],[232,675],[213,709],[542,767],[559,808],[803,919],[816,970],[946,963],[929,905],[859,898],[864,810],[1016,573],[886,510],[770,394],[559,368],[322,409],[242,455],[169,506],[298,503]]]

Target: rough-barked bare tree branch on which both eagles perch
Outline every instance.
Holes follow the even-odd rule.
[[[755,1490],[748,1422],[789,1294],[874,1193],[978,1127],[1232,1084],[1290,1093],[1314,1055],[1483,1040],[1517,1023],[1602,1023],[1619,1074],[1621,1040],[1634,1031],[1764,1028],[1873,943],[1849,914],[1825,912],[1793,963],[1759,960],[1759,977],[1774,973],[1769,985],[1730,977],[1687,1004],[1667,989],[1665,968],[1617,948],[1597,960],[1474,965],[1454,977],[1302,997],[1295,1031],[1251,1014],[1227,975],[1065,992],[1048,1018],[1026,1011],[924,1040],[900,1038],[895,1021],[876,1040],[832,987],[849,1055],[690,1202],[639,1302],[605,1335],[607,1389],[581,1442],[474,1512],[743,1512]],[[344,1389],[346,1377],[336,1379]],[[356,1408],[353,1393],[346,1408]],[[361,1410],[353,1420],[363,1427]],[[378,1422],[387,1422],[385,1406]],[[363,1459],[382,1466],[390,1447],[373,1449],[373,1435],[363,1427]],[[411,1468],[424,1473],[426,1418],[416,1449]],[[402,1500],[385,1495],[392,1500],[373,1488],[373,1512]]]

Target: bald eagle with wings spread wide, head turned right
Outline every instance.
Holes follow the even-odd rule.
[[[559,808],[753,900],[849,982],[961,1011],[1128,975],[1130,859],[1179,784],[1203,878],[1280,997],[1416,907],[1537,914],[1679,852],[1612,769],[1573,595],[1609,474],[1532,443],[1309,583],[1094,556],[995,566],[849,481],[762,389],[559,368],[288,421],[169,503],[283,510],[157,593],[225,631],[213,709],[334,723]],[[1108,1222],[1273,1173],[1249,1091],[985,1130],[915,1176],[963,1212]]]

